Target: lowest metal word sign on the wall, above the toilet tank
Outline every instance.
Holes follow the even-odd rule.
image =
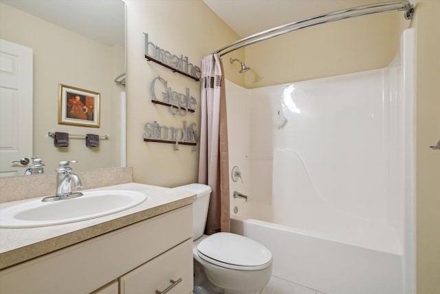
[[[145,124],[144,140],[152,140],[162,143],[175,143],[175,150],[179,150],[179,143],[186,145],[194,145],[192,151],[197,150],[197,143],[200,139],[200,134],[195,129],[196,123],[186,125],[184,120],[184,127],[166,127],[159,125],[157,121],[154,123]]]

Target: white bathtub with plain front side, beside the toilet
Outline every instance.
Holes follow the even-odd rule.
[[[267,246],[273,275],[333,294],[402,293],[401,255],[332,240],[252,218],[231,219],[231,231]]]

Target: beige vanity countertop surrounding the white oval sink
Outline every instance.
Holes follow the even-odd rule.
[[[137,184],[134,182],[83,191],[99,190],[140,191],[146,195],[146,200],[131,209],[91,220],[48,227],[25,229],[0,228],[0,269],[31,260],[32,258],[51,253],[58,249],[63,249],[104,233],[109,233],[110,231],[134,224],[135,222],[153,218],[154,216],[173,209],[184,207],[192,204],[196,199],[195,193],[190,191]],[[27,200],[3,202],[0,203],[0,209],[25,201]]]

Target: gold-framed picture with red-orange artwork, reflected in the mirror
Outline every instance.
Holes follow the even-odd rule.
[[[100,94],[77,87],[59,85],[58,123],[99,127]]]

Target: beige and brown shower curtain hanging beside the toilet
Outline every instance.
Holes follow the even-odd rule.
[[[206,233],[230,231],[228,128],[225,81],[219,54],[201,63],[199,183],[212,188]]]

